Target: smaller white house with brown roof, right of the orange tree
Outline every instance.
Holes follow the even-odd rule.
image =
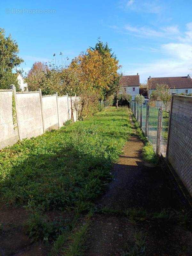
[[[132,100],[135,99],[136,94],[139,94],[140,80],[138,73],[136,76],[122,76],[120,84],[124,92],[132,95]]]

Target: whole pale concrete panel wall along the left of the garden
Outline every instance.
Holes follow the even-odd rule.
[[[19,139],[36,137],[45,131],[58,129],[71,119],[71,100],[68,95],[42,97],[41,91],[16,93],[15,86],[12,88],[13,90],[0,90],[0,149],[13,145]],[[16,103],[15,114],[12,113],[13,95]],[[75,122],[76,99],[79,100],[72,97]]]

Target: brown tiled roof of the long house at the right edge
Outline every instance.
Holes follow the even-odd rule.
[[[151,77],[148,78],[148,83],[150,81],[150,89],[155,89],[157,84],[167,84],[169,88],[182,89],[182,88],[192,88],[192,80],[190,76],[174,76],[174,77]]]

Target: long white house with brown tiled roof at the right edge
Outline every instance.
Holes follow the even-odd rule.
[[[174,77],[150,77],[147,81],[149,88],[149,95],[156,89],[157,84],[167,84],[171,92],[176,93],[192,93],[192,80],[188,76],[174,76]]]

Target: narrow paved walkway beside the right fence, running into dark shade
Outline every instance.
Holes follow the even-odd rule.
[[[136,131],[133,122],[132,129]],[[119,162],[114,164],[112,171],[114,179],[109,183],[106,194],[97,201],[98,207],[118,211],[142,207],[148,212],[174,207],[172,189],[162,170],[158,167],[149,168],[144,165],[142,147],[143,142],[137,136],[132,136],[127,141]],[[192,242],[192,236],[189,239],[183,239],[180,248],[177,249],[174,248],[177,244],[175,241],[180,241],[180,236],[188,236],[187,231],[175,231],[174,225],[168,228],[156,222],[149,223],[147,220],[139,225],[133,226],[130,220],[122,214],[94,214],[85,255],[122,255],[126,244],[134,244],[133,233],[136,228],[149,234],[147,255],[179,256],[181,255],[179,254],[180,248],[185,246],[186,242],[188,245]]]

